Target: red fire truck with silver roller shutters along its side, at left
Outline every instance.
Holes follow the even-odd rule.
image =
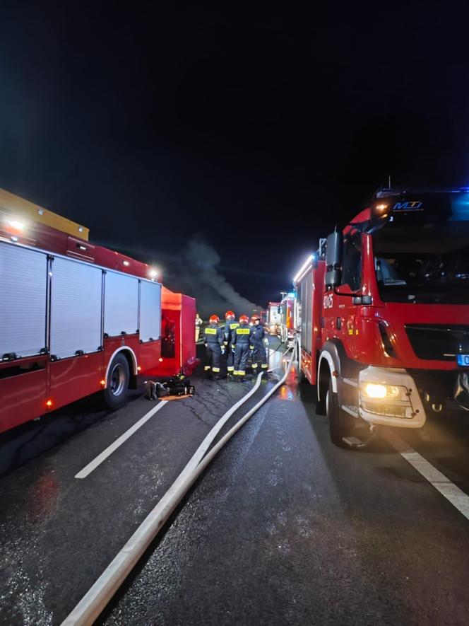
[[[191,373],[194,298],[88,241],[88,228],[0,190],[0,432],[137,376]]]

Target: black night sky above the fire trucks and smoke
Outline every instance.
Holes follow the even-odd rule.
[[[325,4],[2,3],[0,187],[275,299],[388,174],[469,184],[466,3]]]

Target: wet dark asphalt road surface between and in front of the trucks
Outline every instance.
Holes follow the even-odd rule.
[[[114,413],[77,403],[15,433],[16,455],[15,437],[0,439],[11,461],[0,622],[59,624],[251,384],[196,381],[195,398],[165,405],[85,480],[74,476],[148,400],[136,394]],[[385,439],[333,446],[314,407],[293,373],[191,489],[100,623],[468,623],[468,518]],[[468,420],[440,415],[423,439],[398,434],[469,494]]]

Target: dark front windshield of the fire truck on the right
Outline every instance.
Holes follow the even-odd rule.
[[[387,232],[386,232],[387,231]],[[469,232],[383,228],[373,236],[374,267],[386,302],[469,303]]]

